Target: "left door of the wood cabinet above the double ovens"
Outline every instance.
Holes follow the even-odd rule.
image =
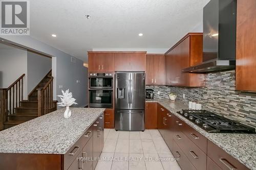
[[[88,53],[88,71],[100,71],[101,53]]]

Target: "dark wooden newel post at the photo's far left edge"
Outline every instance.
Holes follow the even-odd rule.
[[[4,122],[8,117],[7,112],[7,89],[0,89],[0,131],[4,130]]]

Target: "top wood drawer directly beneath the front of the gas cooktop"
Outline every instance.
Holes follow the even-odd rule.
[[[193,141],[205,154],[207,153],[207,139],[197,132],[195,129],[191,128],[189,125],[185,124],[182,128],[182,132]]]

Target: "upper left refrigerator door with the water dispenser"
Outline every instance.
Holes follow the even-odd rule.
[[[130,109],[130,73],[116,72],[115,108]]]

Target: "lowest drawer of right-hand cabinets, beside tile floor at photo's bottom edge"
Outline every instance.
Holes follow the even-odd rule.
[[[180,165],[181,169],[196,170],[196,168],[193,166],[193,164],[189,162],[189,160],[175,141],[173,142],[173,155],[175,158],[177,158],[177,162]]]

